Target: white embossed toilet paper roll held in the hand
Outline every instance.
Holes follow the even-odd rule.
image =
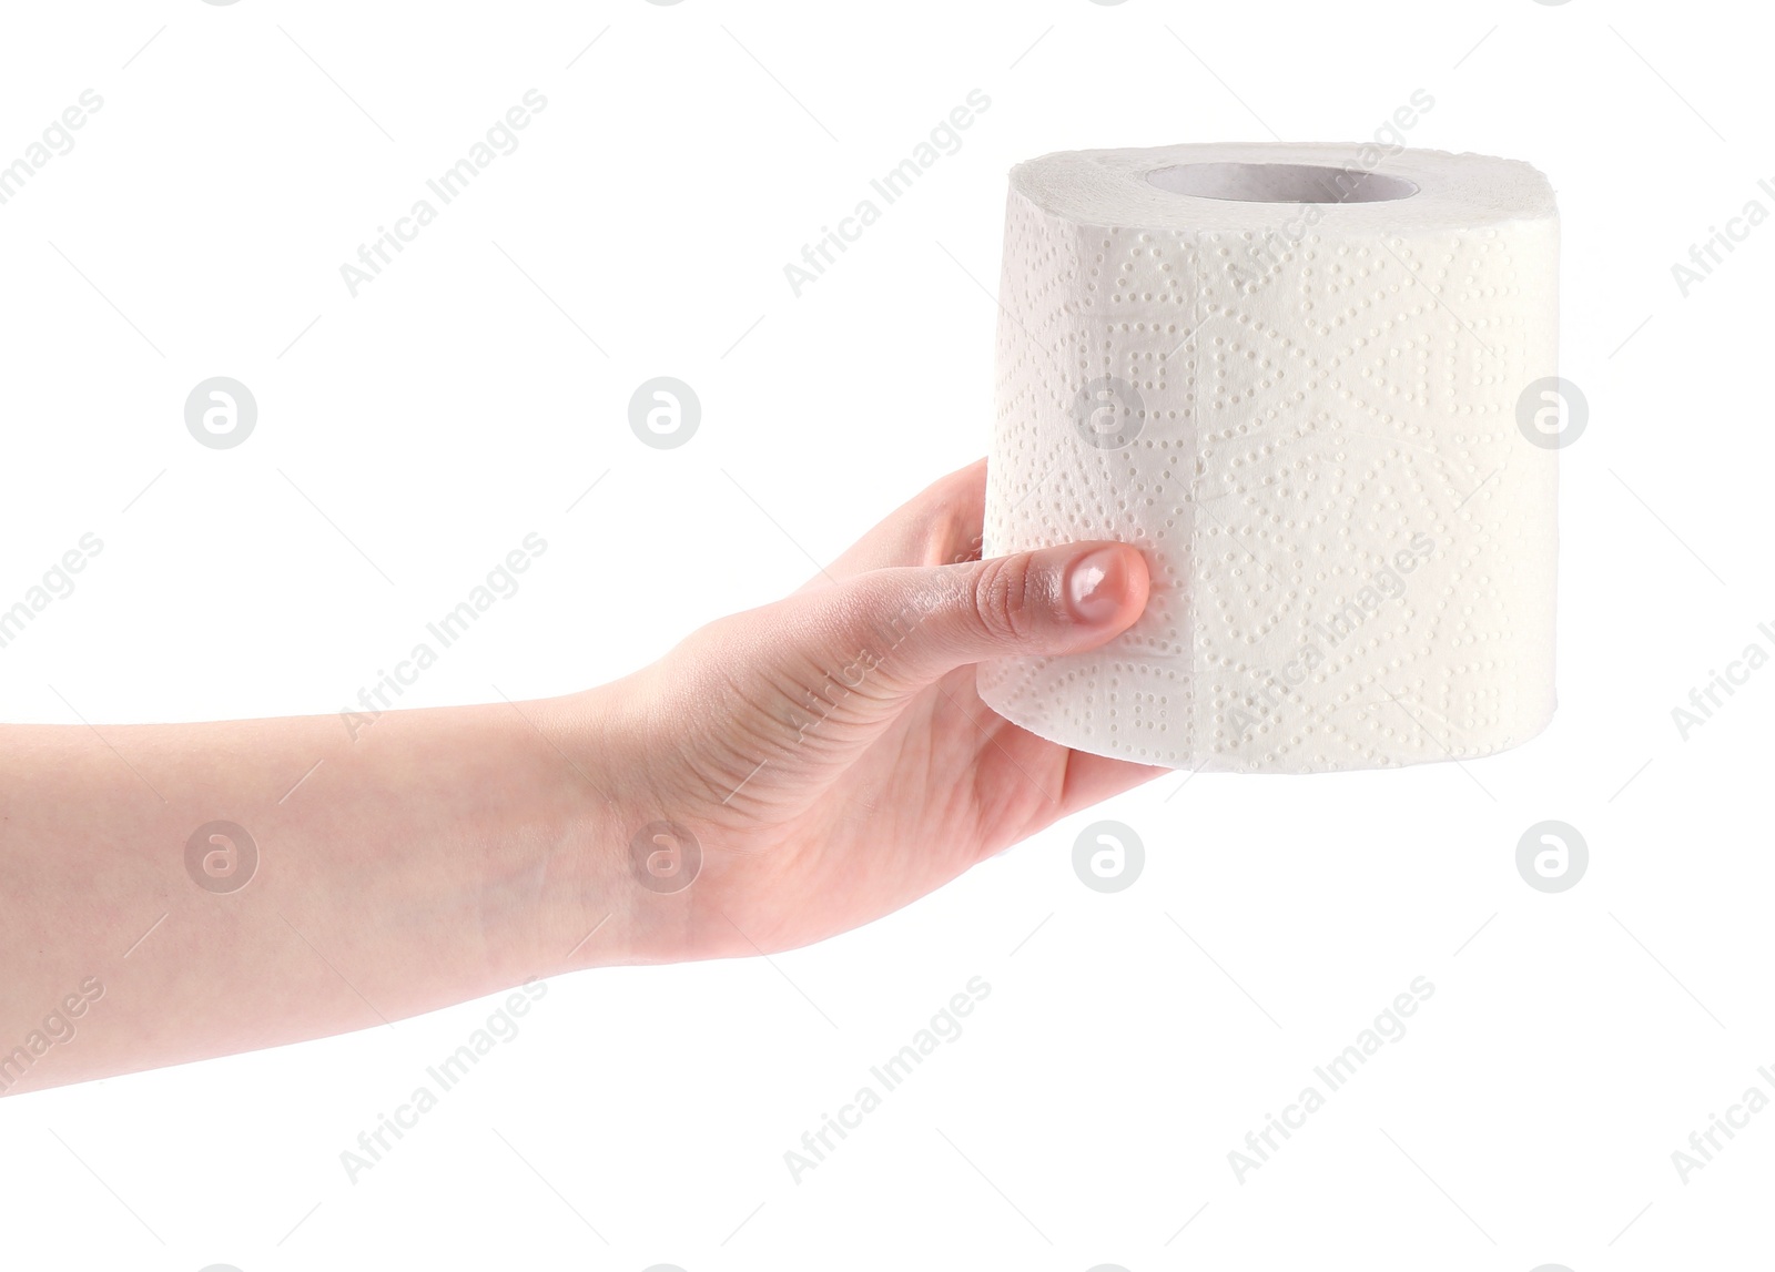
[[[989,706],[1173,768],[1470,759],[1553,713],[1558,218],[1526,163],[1367,145],[1012,170],[989,555],[1143,550],[1102,649]],[[1560,426],[1560,404],[1569,406]]]

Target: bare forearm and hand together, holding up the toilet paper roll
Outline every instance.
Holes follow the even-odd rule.
[[[982,461],[793,596],[566,697],[387,711],[355,740],[334,715],[0,727],[0,1086],[793,949],[1164,772],[976,695],[974,663],[1095,648],[1148,587],[1116,543],[980,561],[983,497]],[[208,891],[186,841],[222,820],[257,866],[201,839],[233,889]]]

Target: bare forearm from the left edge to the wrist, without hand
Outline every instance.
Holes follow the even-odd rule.
[[[389,711],[355,740],[339,717],[0,727],[0,1089],[623,962],[618,743],[589,697]],[[217,821],[252,848],[220,828],[188,853]]]

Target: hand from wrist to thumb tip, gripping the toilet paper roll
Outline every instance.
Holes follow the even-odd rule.
[[[605,837],[632,864],[630,841],[671,823],[641,852],[676,866],[659,885],[682,889],[630,875],[630,960],[822,940],[1164,772],[1044,742],[980,701],[976,662],[1100,646],[1140,616],[1148,585],[1145,559],[1120,543],[980,561],[983,499],[982,461],[793,596],[588,695],[625,752],[598,765],[627,816]],[[701,853],[689,883],[685,832]],[[589,905],[607,910],[598,891]]]

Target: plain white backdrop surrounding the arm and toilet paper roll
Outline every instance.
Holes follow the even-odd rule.
[[[9,1100],[0,1261],[1766,1258],[1775,1112],[1686,1183],[1670,1158],[1775,1063],[1775,671],[1686,742],[1670,717],[1775,646],[1755,632],[1775,227],[1686,298],[1670,273],[1747,200],[1775,208],[1754,21],[1594,0],[7,5],[0,163],[83,89],[105,105],[0,206],[0,601],[85,532],[105,550],[0,651],[5,718],[334,711],[531,530],[550,552],[522,593],[408,701],[596,683],[799,585],[983,452],[1005,172],[1054,149],[1361,140],[1427,90],[1415,145],[1525,158],[1558,192],[1562,373],[1590,424],[1562,452],[1560,711],[1532,745],[1172,777],[774,965],[557,979],[357,1183],[341,1150],[492,1004]],[[520,149],[353,300],[339,264],[527,89],[548,106]],[[990,108],[962,149],[795,298],[783,264],[971,89]],[[218,374],[259,403],[231,451],[183,422]],[[676,451],[628,429],[660,374],[703,403]],[[1070,868],[1097,816],[1147,844],[1113,896]],[[1553,896],[1514,866],[1548,818],[1590,846]],[[974,976],[992,992],[966,1033],[795,1183],[785,1150]],[[1418,976],[1436,992],[1409,1033],[1239,1183],[1227,1153]]]

